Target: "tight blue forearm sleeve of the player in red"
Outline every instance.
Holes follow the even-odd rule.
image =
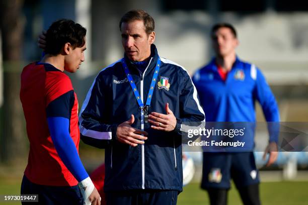
[[[64,165],[79,182],[89,177],[69,135],[69,120],[63,117],[49,117],[47,122],[52,142]]]

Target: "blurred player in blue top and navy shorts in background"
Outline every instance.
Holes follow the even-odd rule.
[[[254,123],[257,100],[266,121],[270,122],[269,127],[278,125],[278,106],[262,72],[236,55],[239,41],[235,28],[225,23],[214,25],[211,39],[216,56],[193,76],[206,121]],[[254,133],[254,128],[250,131]],[[278,135],[275,129],[269,129],[269,134],[269,145],[264,153],[264,157],[269,153],[267,166],[277,159]],[[230,178],[244,204],[260,204],[259,174],[252,151],[203,152],[201,187],[208,191],[211,204],[227,203]]]

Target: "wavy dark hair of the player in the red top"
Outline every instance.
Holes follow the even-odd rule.
[[[57,20],[51,24],[45,35],[45,53],[58,55],[65,43],[70,43],[73,48],[83,47],[86,43],[86,33],[86,28],[72,20]]]

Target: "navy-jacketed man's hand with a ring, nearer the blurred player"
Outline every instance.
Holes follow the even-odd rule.
[[[162,130],[166,132],[173,131],[177,125],[177,119],[169,108],[169,103],[165,106],[167,115],[152,112],[148,115],[148,122],[151,128],[155,130]]]

